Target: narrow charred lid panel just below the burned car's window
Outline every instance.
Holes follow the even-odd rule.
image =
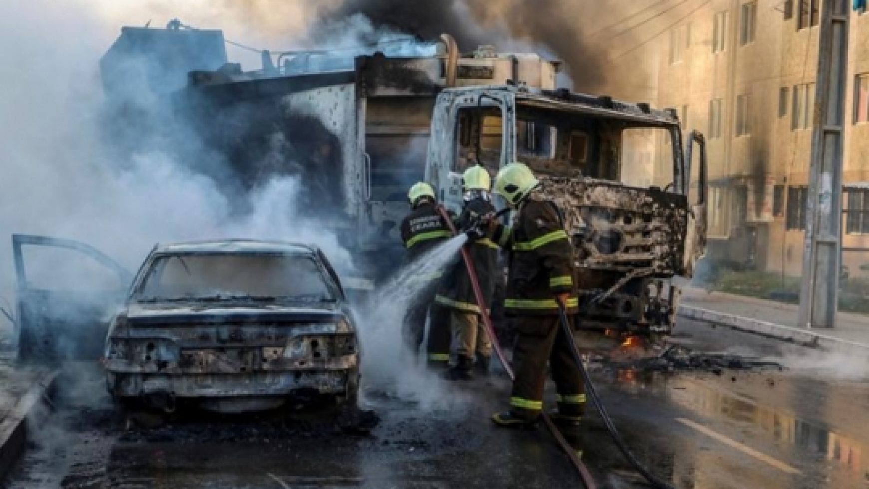
[[[335,304],[228,305],[228,304],[130,304],[129,324],[209,324],[227,322],[333,322],[343,316]]]

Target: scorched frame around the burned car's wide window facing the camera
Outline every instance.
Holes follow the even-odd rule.
[[[149,280],[156,273],[162,271],[161,262],[173,257],[187,259],[203,256],[241,256],[241,257],[289,257],[312,261],[315,265],[319,279],[325,289],[323,294],[296,294],[296,295],[257,295],[257,294],[198,294],[182,296],[149,296],[145,290]],[[186,268],[186,265],[185,265]],[[136,280],[129,295],[129,301],[136,303],[159,303],[159,302],[206,302],[206,303],[250,303],[257,305],[281,304],[281,303],[335,303],[342,298],[340,288],[324,268],[322,261],[314,253],[300,252],[239,252],[239,251],[167,251],[156,252],[145,262],[139,278]]]

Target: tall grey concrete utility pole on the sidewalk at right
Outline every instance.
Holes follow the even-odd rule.
[[[797,4],[807,4],[811,8],[812,3]],[[836,319],[841,268],[842,153],[850,17],[850,0],[824,0],[813,108],[812,162],[806,199],[806,242],[799,294],[801,327],[833,327]]]

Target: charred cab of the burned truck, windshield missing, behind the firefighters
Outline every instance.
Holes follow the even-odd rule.
[[[426,176],[449,207],[461,205],[470,165],[494,175],[524,162],[540,177],[574,242],[581,330],[617,341],[670,333],[679,278],[706,241],[705,143],[683,142],[675,111],[564,89],[446,89],[431,134]]]

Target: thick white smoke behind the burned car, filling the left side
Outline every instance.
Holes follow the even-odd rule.
[[[151,2],[123,4],[143,12]],[[296,208],[300,182],[291,176],[255,188],[249,213],[236,215],[215,182],[190,170],[197,162],[177,161],[159,140],[117,159],[101,126],[98,62],[121,27],[117,17],[107,20],[107,5],[0,6],[9,69],[0,82],[0,296],[14,295],[13,233],[85,241],[133,270],[158,241],[224,237],[313,242],[346,269],[349,256],[335,235],[302,217],[315,209]],[[142,96],[144,104],[152,95]]]

